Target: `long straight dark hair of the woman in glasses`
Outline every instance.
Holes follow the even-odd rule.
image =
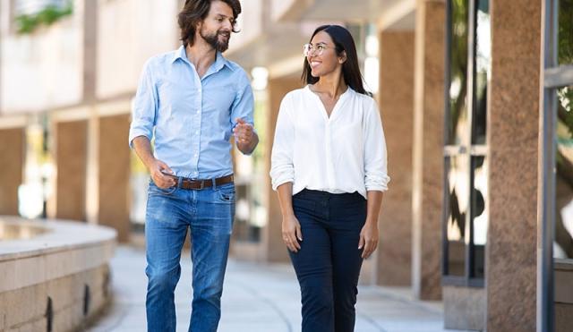
[[[370,92],[364,89],[362,74],[358,66],[355,40],[352,38],[350,32],[339,25],[321,25],[312,33],[311,41],[312,38],[321,31],[328,33],[330,38],[332,38],[338,56],[342,56],[342,52],[346,51],[346,61],[342,64],[342,77],[346,85],[358,93],[372,96]],[[304,57],[304,68],[301,79],[306,81],[307,84],[314,84],[320,79],[319,77],[312,76],[311,64],[308,63],[306,56]]]

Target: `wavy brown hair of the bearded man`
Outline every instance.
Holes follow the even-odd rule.
[[[239,31],[235,25],[236,18],[241,13],[241,3],[239,3],[239,0],[186,0],[183,10],[179,13],[177,19],[179,29],[181,29],[180,40],[183,41],[184,47],[187,47],[187,45],[192,46],[195,42],[195,29],[209,14],[213,1],[221,1],[231,7],[233,10],[233,18],[235,19],[233,32]]]

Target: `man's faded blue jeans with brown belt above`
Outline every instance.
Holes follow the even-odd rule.
[[[185,190],[179,181],[164,190],[150,182],[145,217],[148,331],[175,332],[175,285],[188,227],[193,268],[189,331],[217,331],[234,214],[234,183]]]

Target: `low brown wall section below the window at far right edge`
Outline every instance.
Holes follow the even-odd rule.
[[[573,326],[573,260],[555,260],[555,331]]]

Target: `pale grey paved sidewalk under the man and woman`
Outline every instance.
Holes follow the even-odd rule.
[[[115,301],[90,332],[142,332],[145,323],[145,253],[118,247],[111,262]],[[356,332],[441,332],[439,303],[415,302],[406,289],[360,286]],[[177,331],[187,331],[191,311],[191,260],[185,252],[175,290]],[[300,331],[300,294],[287,264],[229,260],[219,332]]]

